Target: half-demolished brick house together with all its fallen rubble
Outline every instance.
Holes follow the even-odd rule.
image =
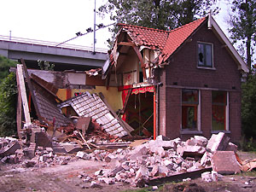
[[[102,68],[51,72],[21,60],[21,139],[1,138],[1,162],[66,165],[73,158],[56,154],[77,153],[115,165],[80,175],[84,183],[138,187],[201,173],[216,181],[255,168],[230,143],[241,137],[241,74],[248,69],[212,16],[172,31],[119,27]],[[154,140],[129,141],[139,136]]]

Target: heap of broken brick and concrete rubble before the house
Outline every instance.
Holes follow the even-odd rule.
[[[207,182],[212,182],[220,179],[219,173],[240,172],[241,167],[245,171],[252,169],[251,166],[246,168],[246,164],[240,165],[242,162],[241,160],[236,160],[237,156],[234,152],[236,145],[229,143],[229,138],[225,137],[223,133],[212,135],[209,141],[205,137],[199,136],[191,137],[185,142],[180,138],[170,140],[159,136],[156,140],[145,140],[145,142],[140,142],[141,144],[134,145],[134,147],[108,149],[100,148],[99,146],[103,143],[107,145],[109,141],[101,141],[99,143],[97,139],[91,137],[85,143],[82,142],[83,136],[79,140],[78,135],[73,136],[73,134],[65,139],[68,140],[68,143],[49,139],[51,145],[42,146],[38,144],[40,142],[37,141],[36,137],[30,137],[31,135],[29,136],[27,133],[43,132],[47,136],[44,128],[31,125],[29,129],[31,131],[26,131],[26,142],[0,138],[0,146],[2,146],[0,150],[2,152],[1,163],[20,163],[25,168],[32,167],[34,169],[67,165],[70,161],[78,159],[106,162],[106,166],[104,166],[106,169],[100,169],[92,176],[87,175],[85,172],[79,174],[79,178],[83,183],[90,183],[92,188],[101,188],[99,183],[114,184],[116,182],[144,187],[154,179],[189,174],[208,167],[212,167],[213,171],[205,172],[201,174],[201,177]],[[34,143],[30,142],[30,138]],[[49,143],[49,141],[46,140],[46,143]],[[122,140],[117,140],[116,142],[124,143]],[[18,146],[15,143],[22,143],[22,145],[19,144]],[[5,148],[9,148],[9,150]],[[230,151],[227,151],[228,149]],[[6,151],[9,151],[9,153]],[[70,152],[75,152],[76,155],[68,155]],[[254,161],[251,162],[251,165],[253,165],[252,163]],[[107,165],[112,165],[112,168]]]

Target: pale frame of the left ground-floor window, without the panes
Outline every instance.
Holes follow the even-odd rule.
[[[197,90],[197,89],[191,89],[191,88],[183,88],[181,89],[181,133],[185,134],[186,132],[197,132],[201,131],[201,90],[197,90],[197,103],[189,103],[189,102],[183,102],[183,90]],[[191,106],[196,108],[196,128],[195,129],[189,129],[189,128],[183,128],[183,106]]]

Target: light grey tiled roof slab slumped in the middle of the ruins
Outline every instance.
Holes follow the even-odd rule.
[[[59,105],[60,108],[67,106],[71,106],[80,117],[96,119],[96,122],[102,125],[102,128],[110,135],[124,137],[130,135],[130,131],[132,131],[130,127],[124,125],[122,119],[111,112],[102,98],[96,94],[90,95],[89,92],[85,92]]]

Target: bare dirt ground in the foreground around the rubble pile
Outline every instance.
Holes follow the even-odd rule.
[[[256,154],[239,152],[242,160],[256,158]],[[78,176],[81,173],[94,175],[99,169],[112,168],[113,165],[90,160],[75,160],[63,166],[45,168],[22,168],[20,164],[0,164],[0,191],[125,191],[136,189],[129,184],[100,184],[91,188]],[[256,191],[256,172],[224,176],[221,181],[207,183],[201,177],[185,183],[162,183],[160,191]],[[144,191],[153,190],[152,187]]]

